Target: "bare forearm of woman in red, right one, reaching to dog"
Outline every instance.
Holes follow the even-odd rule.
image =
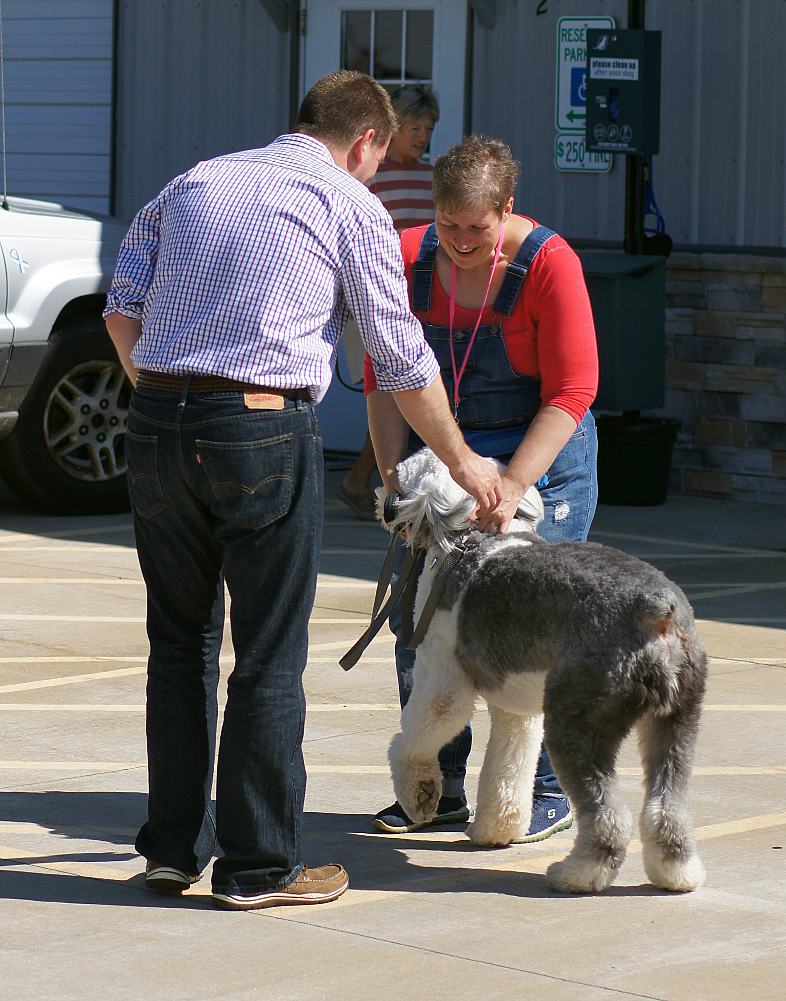
[[[544,406],[538,411],[503,473],[500,505],[478,520],[481,531],[508,531],[508,526],[516,517],[519,502],[557,458],[576,426],[576,420],[559,406]]]

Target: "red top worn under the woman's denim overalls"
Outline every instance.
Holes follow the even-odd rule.
[[[538,225],[535,220],[530,221]],[[418,226],[402,233],[411,308],[413,262],[426,228]],[[419,319],[434,326],[449,325],[450,298],[437,269],[431,311],[414,311]],[[457,303],[455,329],[472,329],[477,318],[477,309],[465,309]],[[559,406],[578,424],[598,391],[598,347],[581,261],[561,236],[552,236],[535,258],[508,319],[494,313],[491,306],[484,309],[481,323],[495,322],[502,325],[513,370],[541,380],[541,406]],[[466,348],[459,342],[457,365],[464,359],[463,350]],[[376,388],[367,354],[363,376],[367,395]]]

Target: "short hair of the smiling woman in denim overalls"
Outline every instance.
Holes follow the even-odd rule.
[[[502,217],[521,166],[501,139],[469,135],[434,164],[434,204],[446,211],[488,206]]]

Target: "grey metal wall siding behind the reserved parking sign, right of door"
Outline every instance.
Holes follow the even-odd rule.
[[[620,240],[625,164],[607,175],[554,166],[557,21],[611,14],[626,0],[498,0],[476,24],[473,127],[522,161],[518,210],[566,236]],[[676,243],[786,246],[786,3],[649,0],[663,32],[661,152],[655,193]]]

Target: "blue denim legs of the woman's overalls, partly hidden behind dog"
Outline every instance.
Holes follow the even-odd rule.
[[[484,448],[483,434],[476,431],[467,435],[468,442],[482,455],[494,455],[494,432],[489,432]],[[549,469],[549,482],[539,487],[545,518],[538,527],[538,535],[550,543],[586,542],[598,506],[598,435],[595,419],[588,410],[571,435],[565,447]],[[397,575],[404,563],[406,550],[401,549],[397,562]],[[419,570],[420,573],[420,570]],[[402,709],[407,705],[413,689],[415,651],[407,649],[402,632],[402,603],[396,604],[389,619],[390,631],[396,635],[396,673],[399,676],[399,698]],[[440,768],[443,773],[443,796],[461,796],[467,776],[467,759],[473,746],[473,732],[468,724],[450,744],[440,751]],[[560,784],[554,774],[546,746],[541,746],[541,756],[535,774],[535,795],[560,793]]]

